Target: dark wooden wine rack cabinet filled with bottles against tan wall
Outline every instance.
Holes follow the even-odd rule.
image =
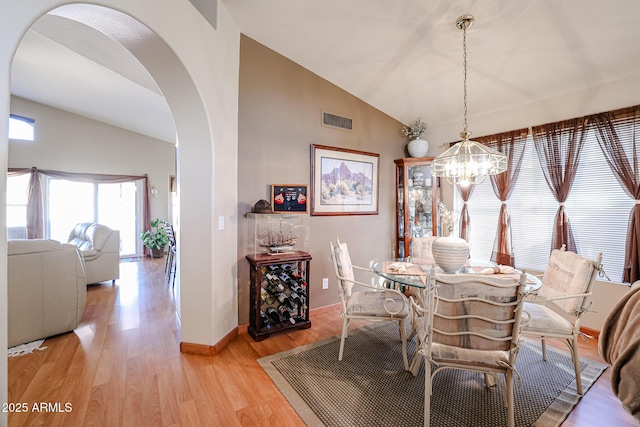
[[[249,335],[262,341],[290,329],[307,329],[309,264],[303,251],[247,255],[250,278]]]

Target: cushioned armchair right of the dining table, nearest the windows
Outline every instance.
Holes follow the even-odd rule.
[[[524,311],[529,321],[522,334],[540,338],[542,359],[547,360],[546,339],[563,341],[571,351],[576,374],[576,388],[582,395],[582,378],[578,359],[578,337],[582,314],[591,307],[591,289],[596,274],[601,270],[602,253],[596,260],[578,254],[554,249],[542,277],[542,287],[532,301],[525,302]]]

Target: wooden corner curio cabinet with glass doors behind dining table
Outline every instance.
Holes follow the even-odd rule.
[[[440,235],[439,181],[431,174],[432,160],[433,157],[395,160],[396,257],[411,255],[412,239]]]

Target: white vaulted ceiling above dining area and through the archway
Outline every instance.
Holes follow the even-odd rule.
[[[640,75],[637,0],[223,3],[243,34],[405,124],[422,117],[462,130],[463,33],[455,22],[465,14],[475,17],[467,30],[471,130],[474,115]],[[175,142],[171,113],[144,67],[74,21],[72,9],[43,16],[25,35],[12,94]]]

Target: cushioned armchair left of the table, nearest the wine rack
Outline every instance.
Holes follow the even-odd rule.
[[[407,360],[407,331],[405,321],[409,315],[408,301],[402,292],[396,289],[375,287],[371,284],[355,280],[354,269],[371,272],[368,268],[351,264],[349,249],[346,243],[337,241],[337,245],[331,245],[331,259],[338,281],[340,300],[342,303],[342,337],[340,338],[340,351],[338,360],[342,360],[344,342],[349,336],[349,323],[354,319],[371,321],[397,322],[402,341],[402,360],[405,370],[409,370]],[[354,290],[358,285],[362,290]]]

